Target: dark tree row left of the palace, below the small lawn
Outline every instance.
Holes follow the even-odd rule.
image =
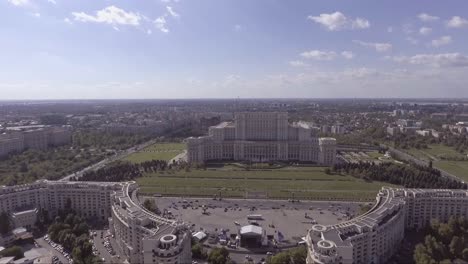
[[[71,180],[103,182],[129,181],[143,176],[143,173],[164,171],[170,168],[171,165],[168,165],[165,160],[150,160],[136,164],[128,161],[117,161],[97,171],[87,171],[79,178],[72,177]]]

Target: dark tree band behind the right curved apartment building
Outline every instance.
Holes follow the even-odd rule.
[[[467,189],[466,183],[443,177],[437,169],[416,164],[380,163],[377,165],[364,162],[335,164],[331,173],[349,174],[366,181],[388,182],[406,188]]]

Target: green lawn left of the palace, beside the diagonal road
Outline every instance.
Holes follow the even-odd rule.
[[[182,153],[184,149],[185,144],[183,143],[156,143],[125,157],[124,160],[133,163],[140,163],[153,159],[169,161]]]

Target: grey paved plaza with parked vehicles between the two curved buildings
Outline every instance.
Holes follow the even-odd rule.
[[[237,234],[242,226],[252,223],[248,215],[261,215],[262,220],[254,224],[262,227],[266,235],[281,232],[284,245],[300,242],[313,223],[336,224],[354,217],[360,209],[360,203],[353,202],[140,197],[145,199],[154,199],[161,212],[170,212],[192,225],[194,232],[217,234],[229,230],[229,234]]]

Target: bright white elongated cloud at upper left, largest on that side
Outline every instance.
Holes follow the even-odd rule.
[[[126,12],[116,6],[108,6],[96,12],[96,15],[89,15],[84,12],[73,12],[74,19],[80,22],[106,23],[109,25],[140,25],[142,16],[138,13]]]

